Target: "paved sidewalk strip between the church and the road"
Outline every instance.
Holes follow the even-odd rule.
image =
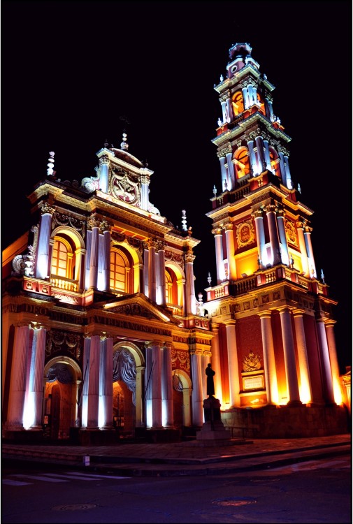
[[[177,476],[264,470],[303,460],[351,453],[351,435],[301,439],[231,439],[230,445],[199,442],[51,446],[2,444],[2,458],[68,465],[125,476]]]

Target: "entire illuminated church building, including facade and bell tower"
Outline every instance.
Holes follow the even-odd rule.
[[[229,50],[208,213],[217,284],[195,296],[193,249],[150,202],[153,175],[104,144],[95,177],[62,182],[50,152],[33,226],[3,251],[6,439],[180,439],[203,425],[206,367],[233,437],[347,432],[333,307],[310,210],[289,169],[274,89],[247,43]],[[211,234],[211,233],[210,233]]]

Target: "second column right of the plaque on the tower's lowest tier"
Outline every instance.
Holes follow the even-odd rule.
[[[287,378],[289,400],[287,404],[301,404],[298,377],[296,374],[296,356],[294,348],[293,330],[291,328],[291,314],[288,307],[280,310],[282,342],[284,351],[284,366]]]

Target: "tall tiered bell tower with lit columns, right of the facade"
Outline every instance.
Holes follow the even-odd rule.
[[[205,308],[217,333],[212,368],[222,409],[341,403],[336,301],[318,279],[313,211],[292,181],[291,138],[273,112],[274,89],[250,45],[232,45],[215,85],[220,190],[207,214],[217,282]]]

